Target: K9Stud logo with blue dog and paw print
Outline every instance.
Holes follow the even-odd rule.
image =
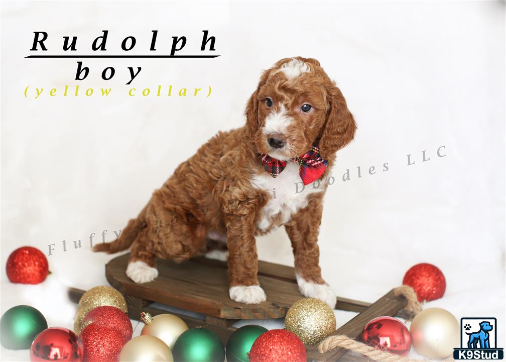
[[[488,317],[460,319],[460,348],[453,349],[454,359],[502,359],[497,348],[497,319]]]

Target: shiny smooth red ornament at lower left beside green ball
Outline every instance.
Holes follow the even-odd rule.
[[[82,346],[74,332],[60,327],[51,327],[40,332],[30,347],[30,360],[82,361]]]

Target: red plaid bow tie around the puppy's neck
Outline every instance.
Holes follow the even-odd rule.
[[[323,172],[325,172],[325,168],[327,168],[327,161],[321,158],[318,146],[313,146],[311,150],[301,157],[290,158],[290,161],[297,162],[300,165],[299,175],[304,185],[309,185],[320,178]],[[286,161],[272,158],[265,153],[262,154],[262,163],[265,166],[265,170],[272,177],[277,177],[286,167]]]

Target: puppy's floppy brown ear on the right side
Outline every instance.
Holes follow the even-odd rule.
[[[350,143],[355,135],[357,124],[348,110],[345,97],[341,90],[332,82],[327,89],[329,109],[325,126],[318,142],[320,154],[328,159],[336,151]]]

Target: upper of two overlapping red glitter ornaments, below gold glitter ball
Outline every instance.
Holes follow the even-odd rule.
[[[92,323],[118,331],[123,336],[124,343],[132,339],[132,322],[119,308],[109,305],[93,308],[82,319],[81,325],[84,328]]]

